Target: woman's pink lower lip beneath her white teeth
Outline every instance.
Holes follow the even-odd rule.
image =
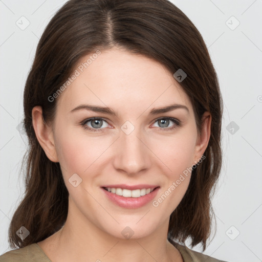
[[[139,198],[125,198],[122,195],[118,195],[115,193],[108,192],[107,190],[101,188],[104,193],[106,194],[107,198],[111,200],[116,205],[123,207],[123,208],[139,208],[146,205],[152,199],[154,199],[157,195],[157,192],[160,187],[157,187],[154,191],[150,192],[149,194],[142,195]]]

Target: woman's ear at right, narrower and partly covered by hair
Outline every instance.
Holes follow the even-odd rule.
[[[201,134],[198,134],[198,138],[195,144],[194,164],[199,162],[208,146],[211,128],[211,115],[209,112],[205,112],[203,114],[202,122]]]

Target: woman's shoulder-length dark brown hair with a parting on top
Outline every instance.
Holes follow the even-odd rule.
[[[25,154],[26,192],[9,227],[11,248],[37,243],[58,231],[68,213],[69,193],[59,163],[50,161],[34,133],[32,109],[40,105],[43,119],[56,112],[52,96],[75,70],[84,55],[122,47],[162,63],[172,74],[182,69],[180,86],[193,105],[198,130],[202,115],[210,112],[211,136],[206,159],[192,171],[189,187],[170,215],[168,239],[192,246],[210,236],[211,198],[222,166],[222,96],[205,42],[189,18],[167,0],[71,0],[51,19],[43,32],[24,91],[24,126],[29,139]],[[21,241],[16,231],[30,234]]]

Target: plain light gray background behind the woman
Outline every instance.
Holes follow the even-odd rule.
[[[19,169],[27,138],[17,125],[25,81],[44,28],[65,2],[0,1],[0,254],[10,250],[8,227],[24,194]],[[230,262],[262,261],[262,0],[172,3],[202,34],[224,99],[224,161],[212,201],[217,230],[204,254]],[[21,16],[30,22],[24,30],[16,25],[26,25]]]

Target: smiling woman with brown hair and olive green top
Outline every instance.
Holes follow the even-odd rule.
[[[222,105],[202,36],[170,2],[67,2],[27,78],[19,249],[0,261],[219,261],[185,241],[210,236]]]

